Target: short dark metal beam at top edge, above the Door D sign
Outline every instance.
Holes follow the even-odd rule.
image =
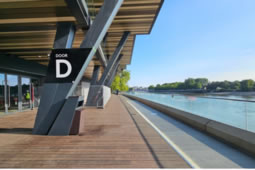
[[[83,29],[90,26],[89,9],[85,0],[65,0],[69,10]]]

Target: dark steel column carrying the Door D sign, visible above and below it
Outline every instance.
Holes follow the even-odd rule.
[[[54,49],[72,48],[76,29],[73,23],[58,23]],[[58,117],[65,97],[72,83],[45,83],[43,95],[37,112],[34,134],[47,135]]]

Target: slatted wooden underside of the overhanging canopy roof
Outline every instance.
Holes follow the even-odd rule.
[[[103,0],[87,3],[93,18]],[[105,56],[110,57],[123,32],[130,31],[121,52],[124,55],[121,67],[130,64],[136,35],[151,32],[162,3],[163,0],[125,0],[102,44]],[[77,24],[64,0],[0,0],[0,52],[47,65],[58,22]],[[79,48],[85,34],[81,29],[76,32],[73,48]],[[92,76],[95,64],[101,65],[96,57],[86,70],[86,77]]]

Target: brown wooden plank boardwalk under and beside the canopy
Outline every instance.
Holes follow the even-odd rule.
[[[82,113],[79,136],[66,137],[32,135],[36,110],[1,117],[0,168],[188,167],[128,110],[118,96],[112,96],[105,109],[87,108]]]

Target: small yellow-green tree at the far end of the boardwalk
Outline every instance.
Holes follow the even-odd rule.
[[[124,70],[120,74],[116,75],[112,82],[111,89],[119,91],[128,91],[128,81],[130,80],[130,72]]]

